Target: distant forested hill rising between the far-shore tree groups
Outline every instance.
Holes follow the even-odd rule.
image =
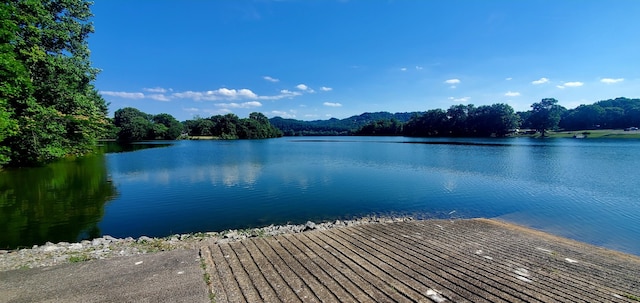
[[[269,119],[271,125],[280,129],[285,136],[344,136],[350,135],[360,127],[371,122],[395,119],[405,123],[414,115],[423,115],[424,112],[389,113],[375,112],[351,116],[345,119],[331,118],[329,120],[302,121],[296,119],[284,119],[274,117]]]

